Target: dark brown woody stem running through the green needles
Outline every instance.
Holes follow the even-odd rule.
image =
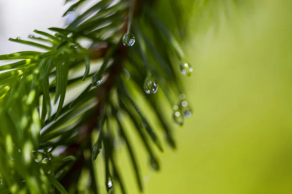
[[[132,0],[129,0],[129,1],[132,2]],[[137,1],[138,2],[136,3],[136,7],[134,10],[134,16],[138,16],[141,13],[141,9],[142,9],[142,0],[137,0]],[[122,34],[127,32],[127,24],[128,24],[128,11],[125,13],[124,26],[121,29]],[[93,49],[92,50],[93,55],[91,59],[98,59],[106,55],[109,49],[109,46],[98,45],[98,46],[92,47],[91,49]],[[96,97],[97,104],[95,107],[95,111],[94,113],[92,113],[92,116],[89,119],[88,123],[85,126],[83,126],[82,131],[79,132],[79,136],[76,138],[76,143],[68,146],[67,153],[70,153],[70,155],[76,155],[76,153],[80,151],[80,149],[82,149],[82,145],[85,144],[86,141],[91,141],[91,138],[90,138],[91,132],[93,129],[95,129],[97,119],[99,119],[99,116],[101,115],[101,111],[102,111],[101,107],[106,101],[106,98],[108,97],[111,89],[114,86],[114,82],[116,78],[119,76],[122,70],[122,65],[126,57],[126,52],[127,52],[127,47],[123,46],[120,43],[120,46],[113,54],[113,56],[115,56],[115,58],[118,58],[119,61],[111,65],[107,80],[100,86],[98,90],[97,97]],[[68,174],[60,180],[60,183],[66,189],[68,189],[72,183],[75,183],[73,182],[73,178],[76,176],[73,176],[73,175],[79,174],[81,172],[82,168],[85,165],[85,162],[86,161],[84,159],[84,156],[83,154],[81,154],[81,157],[79,157],[78,160],[74,163],[72,169],[68,172]]]

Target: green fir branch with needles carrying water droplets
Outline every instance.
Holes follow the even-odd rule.
[[[65,192],[63,187],[67,191],[70,188],[75,191],[82,169],[89,168],[91,189],[97,194],[98,185],[91,158],[93,156],[95,159],[99,149],[103,147],[106,179],[108,182],[112,178],[118,181],[122,192],[126,193],[114,156],[113,138],[117,136],[127,142],[137,183],[140,190],[143,190],[134,151],[119,115],[126,114],[133,122],[133,130],[137,130],[143,141],[154,170],[160,169],[160,163],[152,150],[152,143],[160,151],[163,151],[163,146],[143,113],[144,110],[133,99],[129,84],[139,86],[134,90],[143,94],[147,103],[153,107],[152,112],[161,122],[166,141],[173,148],[175,142],[171,127],[154,98],[147,96],[145,91],[148,94],[156,93],[159,83],[160,90],[166,96],[164,100],[173,106],[176,100],[174,97],[179,96],[181,90],[170,56],[165,54],[167,48],[152,46],[150,40],[153,37],[141,30],[143,26],[140,23],[150,21],[151,28],[148,30],[159,30],[162,36],[170,38],[171,49],[178,53],[179,60],[184,65],[183,70],[188,71],[184,74],[189,75],[191,67],[185,62],[183,51],[174,35],[150,13],[155,1],[122,0],[110,6],[113,0],[101,0],[76,17],[68,27],[50,28],[49,30],[57,32],[55,35],[35,30],[35,33],[43,37],[31,34],[29,38],[32,41],[10,39],[47,51],[22,51],[0,56],[0,60],[21,60],[0,66],[3,71],[0,72],[0,122],[4,126],[0,131],[0,154],[3,156],[0,158],[0,179],[3,180],[3,188],[9,188],[13,194],[54,193],[55,189],[51,187],[53,183],[59,192]],[[86,2],[79,0],[65,15]],[[145,9],[148,11],[145,12]],[[131,29],[139,39],[135,45]],[[81,46],[78,41],[80,38],[89,38],[91,46]],[[33,42],[34,40],[38,42]],[[96,59],[103,63],[94,71],[91,62]],[[158,66],[151,64],[156,59]],[[85,69],[82,75],[72,73],[82,66]],[[123,76],[125,67],[131,74],[129,81]],[[89,80],[92,80],[91,84]],[[66,101],[69,88],[82,81],[86,81],[87,85],[84,84],[85,89],[81,94]],[[189,110],[182,103],[179,101],[176,105],[178,108],[174,110],[175,119],[182,119],[177,122],[179,124],[183,123],[184,117],[187,117],[186,110]],[[111,125],[111,119],[115,119],[117,125]],[[94,129],[98,130],[99,137],[93,146],[93,153],[90,157],[85,157],[84,150],[92,148],[91,134]],[[117,130],[120,130],[118,135],[115,134]],[[65,147],[58,156],[54,156],[53,152],[58,151],[60,146]],[[16,171],[10,172],[7,169]],[[11,179],[11,176],[16,178]],[[107,190],[110,191],[111,186],[107,186]]]

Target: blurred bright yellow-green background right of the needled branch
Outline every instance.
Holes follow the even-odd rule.
[[[183,78],[193,115],[176,129],[178,150],[159,155],[160,173],[135,147],[146,194],[292,194],[292,2],[239,3],[193,13],[184,48],[194,72]],[[138,194],[126,151],[118,155]]]

